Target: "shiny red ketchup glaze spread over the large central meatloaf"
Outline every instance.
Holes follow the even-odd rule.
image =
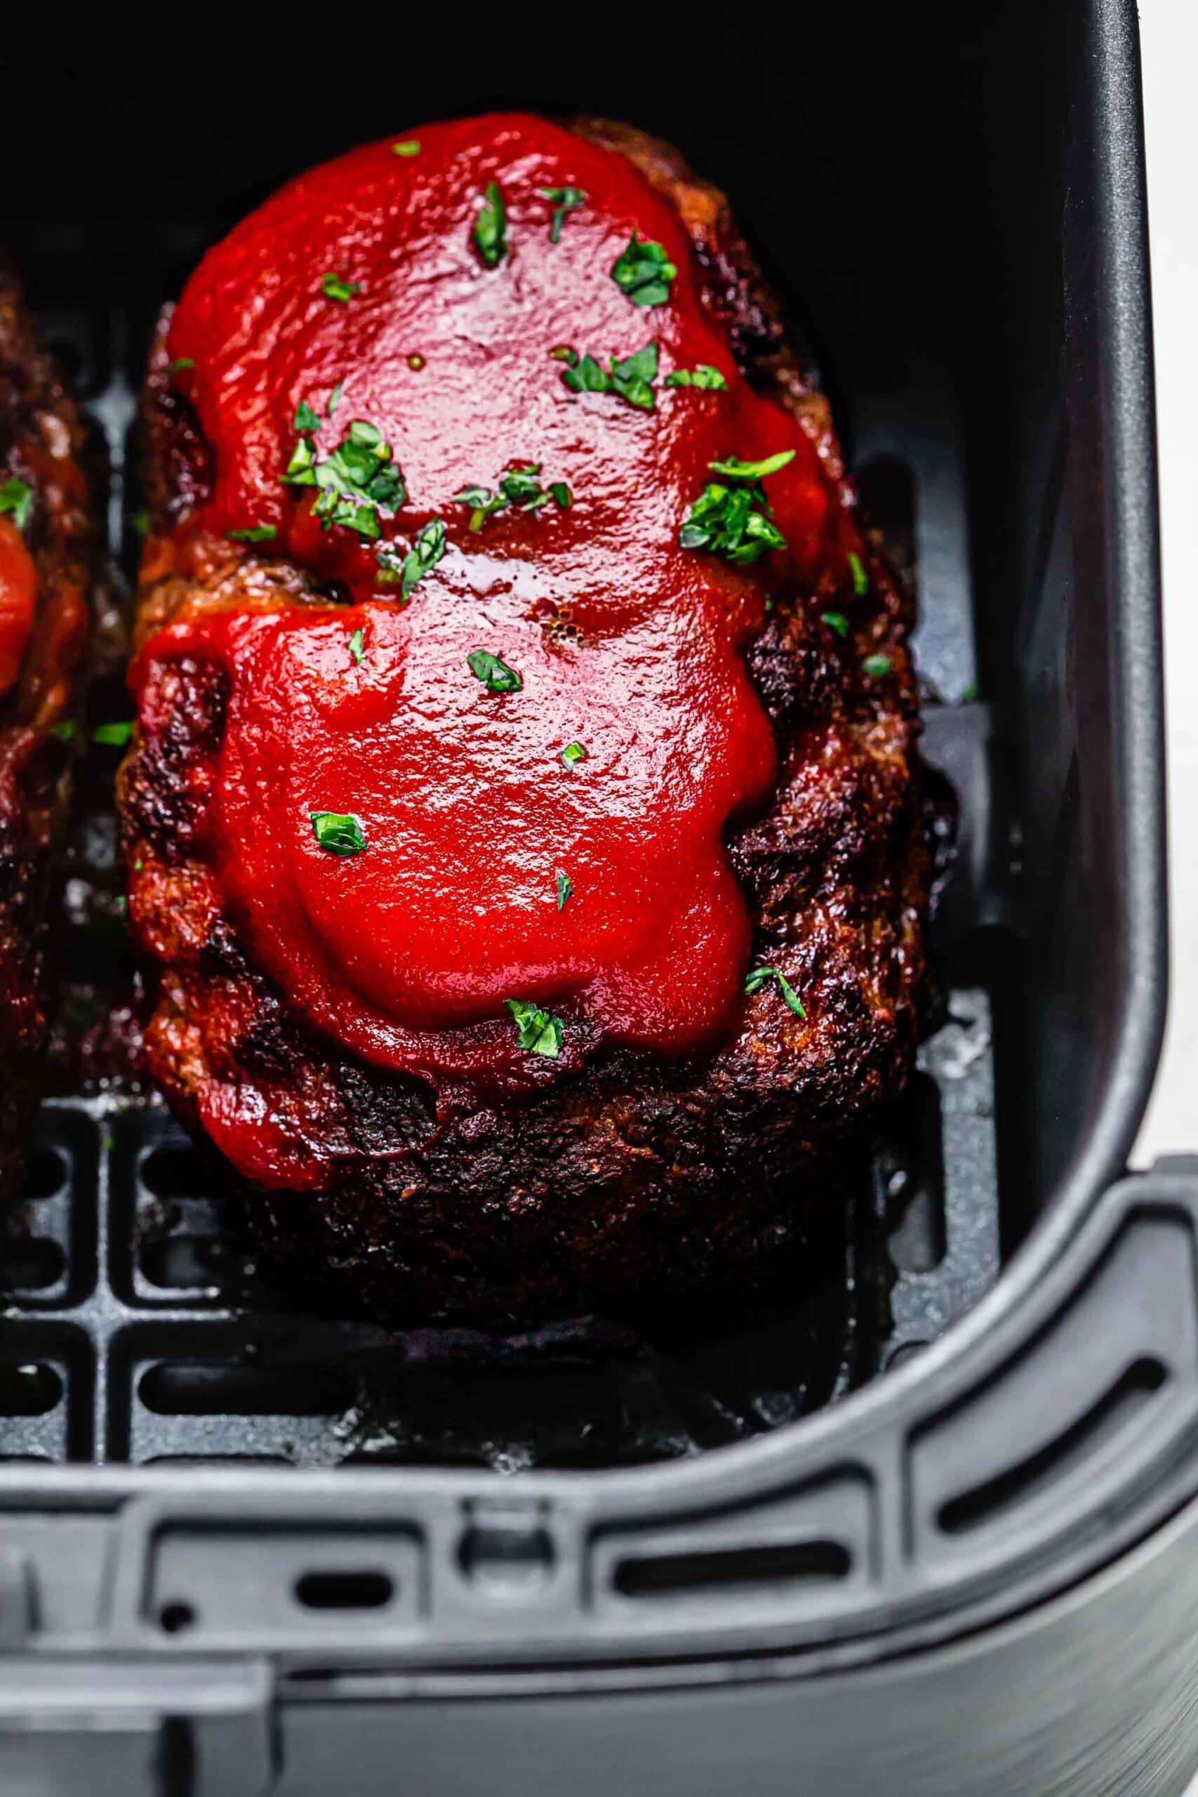
[[[273,525],[262,553],[343,582],[352,604],[171,624],[135,690],[149,717],[165,659],[225,667],[221,897],[334,1040],[433,1084],[499,1089],[578,1066],[602,1040],[709,1049],[736,1026],[749,958],[722,832],[776,778],[740,651],[771,586],[817,564],[830,487],[797,422],[736,372],[677,214],[623,156],[523,115],[413,135],[417,156],[388,140],[282,189],[205,257],[169,336],[169,356],[194,361],[174,379],[216,465],[176,534]],[[490,180],[508,212],[498,268],[471,241]],[[587,199],[553,244],[537,189],[566,185]],[[632,304],[611,277],[632,230],[677,264],[665,305]],[[323,297],[325,271],[361,291]],[[654,412],[571,394],[550,356],[569,343],[607,367],[648,341]],[[697,363],[727,392],[665,386]],[[314,489],[280,483],[300,401],[322,417],[318,458],[352,419],[392,444],[410,498],[384,536],[406,544],[445,521],[445,555],[406,606],[379,584],[374,544],[322,530]],[[679,548],[711,460],[780,449],[796,451],[767,480],[787,552],[735,570]],[[505,510],[471,532],[453,494],[494,489],[517,462],[564,480],[573,507]],[[553,616],[573,633],[546,631]],[[467,667],[478,649],[523,688],[487,692]],[[569,742],[587,751],[575,767]],[[323,850],[320,810],[356,816],[365,852]],[[573,886],[562,909],[559,870]],[[562,1019],[557,1062],[519,1048],[508,997]]]

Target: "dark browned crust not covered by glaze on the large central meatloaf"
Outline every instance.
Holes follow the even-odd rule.
[[[817,440],[842,503],[855,505],[826,399],[783,338],[776,302],[720,192],[670,147],[586,120],[578,131],[630,156],[668,194],[693,243],[704,304],[744,372],[772,386]],[[147,397],[149,492],[165,528],[207,482],[205,446],[167,392],[160,352]],[[232,924],[196,931],[203,812],[221,748],[225,677],[174,670],[172,715],[122,775],[129,863],[140,888],[149,979],[147,1058],[178,1114],[196,1123],[201,1080],[250,1085],[329,1179],[320,1193],[253,1193],[262,1245],[390,1321],[507,1323],[683,1303],[769,1283],[801,1256],[808,1220],[839,1202],[846,1139],[902,1089],[918,1035],[927,852],[918,789],[918,701],[907,654],[911,602],[862,528],[869,595],[848,645],[819,622],[832,575],[780,600],[749,651],[772,721],[780,783],[771,809],[727,834],[754,925],[754,961],[812,999],[801,1022],[772,996],[745,1006],[735,1040],[704,1062],[609,1049],[539,1094],[483,1105],[433,1102],[289,1014]],[[153,539],[142,636],[198,588],[253,604],[264,580],[304,604],[305,575],[214,553],[207,575],[162,573]],[[201,595],[203,597],[203,595]],[[318,595],[323,604],[327,597]],[[259,597],[260,602],[260,597]],[[862,659],[882,651],[891,676]],[[790,1267],[794,1260],[790,1258]]]

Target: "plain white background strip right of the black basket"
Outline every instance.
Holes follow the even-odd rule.
[[[1169,780],[1169,1026],[1135,1163],[1198,1154],[1198,0],[1142,0]],[[1198,1797],[1198,1784],[1193,1797]]]

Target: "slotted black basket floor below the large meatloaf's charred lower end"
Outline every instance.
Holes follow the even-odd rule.
[[[819,1294],[706,1341],[287,1312],[162,1107],[50,1100],[5,1217],[0,1457],[611,1466],[794,1421],[939,1333],[995,1270],[988,1014],[979,992],[952,1006]]]

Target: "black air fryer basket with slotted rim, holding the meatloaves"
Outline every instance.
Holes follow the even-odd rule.
[[[914,566],[927,755],[959,807],[943,1014],[828,1231],[817,1306],[706,1341],[603,1319],[388,1337],[289,1312],[167,1114],[77,1082],[72,1031],[128,978],[95,751],[65,1046],[0,1324],[0,1747],[32,1727],[14,1765],[45,1770],[54,1738],[47,1790],[84,1788],[72,1731],[92,1727],[122,1792],[268,1788],[275,1698],[286,1790],[329,1786],[347,1718],[372,1743],[363,1790],[392,1788],[404,1729],[413,1788],[449,1752],[429,1788],[474,1790],[485,1765],[487,1788],[524,1790],[528,1743],[566,1716],[587,1734],[564,1693],[620,1691],[627,1739],[647,1731],[620,1788],[654,1788],[645,1768],[674,1754],[677,1788],[726,1792],[706,1723],[683,1745],[683,1687],[736,1691],[747,1716],[771,1682],[882,1678],[900,1651],[1031,1612],[1198,1488],[1198,1172],[1121,1179],[1164,1005],[1135,18],[1130,0],[934,11],[763,5],[718,43],[621,5],[481,45],[406,25],[388,77],[352,93],[278,61],[251,88],[190,61],[156,77],[154,142],[163,93],[203,129],[158,156],[88,72],[36,194],[5,198],[97,422],[128,571],[153,316],[255,198],[492,104],[674,138],[731,194]],[[120,704],[113,672],[95,721]],[[444,1722],[467,1696],[469,1765]],[[1031,1732],[1040,1696],[1020,1696]],[[805,1714],[819,1734],[819,1698]],[[842,1765],[880,1765],[864,1743],[884,1732],[862,1722]],[[803,1750],[783,1734],[763,1739]],[[857,1790],[821,1752],[817,1788]],[[794,1788],[760,1748],[742,1763]],[[920,1788],[1033,1788],[1009,1768],[970,1783],[932,1756]],[[546,1779],[611,1781],[598,1752]]]

